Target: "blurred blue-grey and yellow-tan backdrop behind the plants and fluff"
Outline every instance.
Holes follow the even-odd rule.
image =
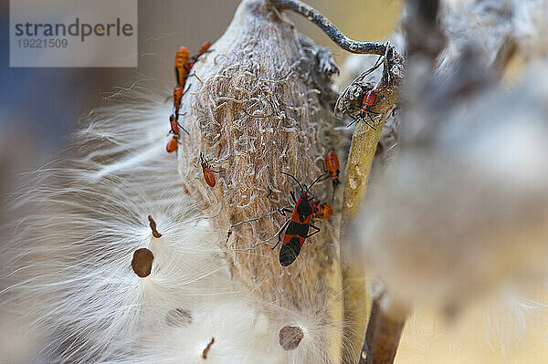
[[[389,36],[402,6],[400,0],[307,3],[348,36],[364,40]],[[138,68],[9,68],[9,1],[0,0],[0,219],[8,218],[5,196],[24,178],[20,173],[55,159],[90,109],[104,105],[110,95],[135,82],[152,81],[170,97],[176,48],[185,45],[196,50],[206,40],[214,42],[238,4],[238,0],[140,0]],[[347,55],[335,49],[327,36],[300,16],[290,18],[300,32],[332,48],[342,64]],[[0,240],[2,244],[6,243]],[[490,350],[482,315],[479,307],[470,307],[456,323],[442,322],[434,313],[414,315],[396,362],[540,363],[548,358],[548,345],[535,336],[509,352]]]

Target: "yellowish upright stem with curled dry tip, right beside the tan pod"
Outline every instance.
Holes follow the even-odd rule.
[[[404,77],[404,59],[394,49],[387,47],[385,53],[385,68],[383,78],[375,87],[377,101],[373,108],[374,115],[380,115],[374,120],[375,129],[369,127],[365,122],[358,121],[353,132],[352,145],[348,154],[346,164],[346,177],[344,181],[344,192],[342,196],[342,224],[341,224],[341,266],[342,266],[342,286],[346,294],[343,296],[342,312],[344,326],[342,335],[345,344],[355,350],[345,350],[343,352],[343,363],[355,363],[358,349],[362,347],[365,332],[366,317],[366,294],[364,280],[364,266],[357,264],[349,259],[353,256],[348,244],[347,225],[353,221],[353,218],[359,212],[364,203],[367,181],[371,172],[371,166],[374,160],[381,132],[385,125],[388,110],[395,103],[396,93]],[[337,100],[335,110],[343,113],[350,112],[350,105],[355,98],[355,91],[365,88],[365,76],[370,72],[366,71],[363,75],[356,78],[353,83],[342,92]],[[363,97],[363,95],[362,95]]]

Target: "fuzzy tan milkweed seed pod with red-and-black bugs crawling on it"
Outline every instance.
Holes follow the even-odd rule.
[[[239,225],[227,244],[225,233],[230,224],[292,208],[290,191],[299,198],[298,186],[281,172],[310,184],[323,172],[325,152],[341,152],[331,130],[336,95],[329,77],[337,68],[324,49],[300,36],[264,0],[243,1],[211,49],[196,64],[197,77],[187,81],[192,85],[182,118],[190,136],[183,134],[179,146],[180,174],[202,202],[201,212],[219,229],[218,243],[234,279],[269,305],[312,312],[333,323],[339,315],[329,307],[340,293],[338,213],[316,222],[321,233],[306,240],[288,267],[279,265],[279,248],[271,250],[276,237],[245,250],[276,234],[289,216],[272,213]],[[215,173],[214,188],[196,166],[201,152],[212,170],[223,171]],[[319,182],[311,192],[331,203],[331,182]]]

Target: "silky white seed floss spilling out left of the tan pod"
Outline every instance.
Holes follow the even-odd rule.
[[[264,304],[231,280],[218,248],[226,235],[199,216],[175,155],[165,152],[169,106],[131,93],[91,113],[68,156],[30,173],[16,192],[22,217],[5,227],[14,234],[3,253],[0,316],[12,322],[4,329],[19,328],[3,332],[12,344],[3,344],[0,361],[279,363],[307,356],[314,336],[284,351],[279,328],[295,317],[268,318],[259,312]],[[140,248],[153,253],[143,278],[132,270]]]

